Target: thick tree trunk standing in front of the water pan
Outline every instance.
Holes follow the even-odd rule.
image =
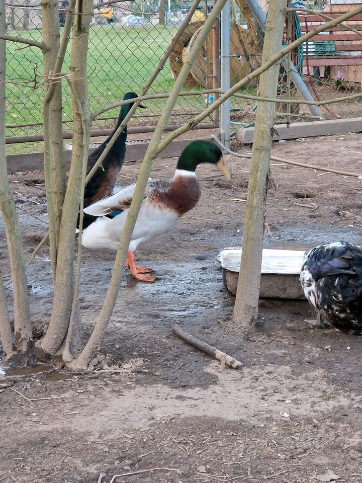
[[[279,52],[283,40],[287,0],[270,0],[266,23],[262,63]],[[260,97],[276,98],[279,79],[277,62],[260,75]],[[263,246],[267,176],[272,150],[275,103],[259,103],[246,202],[243,250],[234,307],[234,323],[246,332],[258,314],[260,269]]]

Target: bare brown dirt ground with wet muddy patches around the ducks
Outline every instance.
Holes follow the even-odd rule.
[[[360,139],[279,142],[273,152],[359,173]],[[199,205],[138,251],[160,280],[148,285],[124,275],[91,374],[42,366],[9,373],[14,384],[0,387],[1,483],[110,483],[116,474],[112,481],[125,483],[362,481],[362,338],[313,329],[306,320],[314,312],[303,300],[261,300],[260,324],[247,339],[230,321],[234,298],[223,287],[217,256],[241,244],[249,160],[225,159],[232,181],[200,166]],[[361,242],[358,179],[272,165],[277,190],[268,194],[265,247]],[[170,177],[174,168],[175,158],[158,159],[152,176]],[[125,165],[119,184],[135,181],[138,169]],[[30,254],[46,230],[43,174],[10,181]],[[7,274],[3,224],[0,229]],[[84,250],[84,338],[101,308],[113,258]],[[47,250],[28,274],[41,333],[51,311]],[[7,293],[10,298],[11,286]],[[216,360],[170,334],[174,323],[243,368],[219,372]]]

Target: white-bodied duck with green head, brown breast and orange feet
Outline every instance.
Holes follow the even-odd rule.
[[[143,282],[154,282],[151,268],[135,265],[134,252],[146,241],[165,233],[176,221],[197,205],[201,191],[195,170],[200,163],[215,165],[230,179],[222,152],[207,141],[190,143],[178,158],[172,179],[149,180],[128,248],[127,263],[131,275]],[[136,185],[129,185],[112,196],[88,206],[84,212],[99,218],[82,233],[87,248],[117,250]]]

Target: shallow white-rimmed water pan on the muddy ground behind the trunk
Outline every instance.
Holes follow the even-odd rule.
[[[224,287],[236,294],[241,248],[225,248],[220,252]],[[267,250],[262,253],[260,298],[305,298],[299,281],[304,250]]]

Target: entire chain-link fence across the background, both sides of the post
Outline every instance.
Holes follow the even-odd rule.
[[[8,0],[7,22],[10,35],[41,39],[39,0]],[[66,0],[59,2],[59,23],[64,24]],[[232,0],[230,38],[231,85],[260,65],[263,30],[249,5],[267,16],[266,0]],[[255,7],[256,5],[256,7]],[[303,33],[355,8],[356,0],[308,0],[294,2],[285,25],[284,44],[298,39]],[[99,109],[122,99],[127,91],[139,93],[147,78],[171,42],[191,2],[188,0],[135,0],[120,2],[95,9],[89,34],[88,74],[91,110]],[[212,9],[211,0],[202,0],[199,10],[178,40],[169,62],[159,73],[149,93],[169,92],[190,48],[199,35]],[[255,12],[254,12],[255,13]],[[327,32],[314,36],[295,49],[290,61],[300,74],[310,96],[327,100],[360,93],[362,83],[362,15],[357,15]],[[7,135],[20,136],[42,132],[42,95],[34,89],[42,75],[41,52],[36,47],[19,47],[8,42],[7,76]],[[219,32],[213,29],[185,84],[185,90],[202,90],[220,86]],[[63,70],[69,69],[69,52]],[[300,92],[288,75],[286,64],[281,67],[277,105],[278,122],[315,119],[306,105],[286,104],[284,99],[300,100]],[[256,95],[257,80],[239,91]],[[172,113],[171,124],[179,124],[203,110],[214,96],[180,97]],[[148,110],[136,113],[132,126],[148,128],[157,121],[164,100],[147,101]],[[255,120],[257,102],[234,97],[231,101],[232,129],[251,126]],[[118,109],[100,117],[94,128],[110,127],[118,116]],[[362,116],[362,100],[354,99],[321,107],[325,119]],[[70,91],[64,86],[64,130],[71,126]],[[210,125],[212,119],[209,119]]]

